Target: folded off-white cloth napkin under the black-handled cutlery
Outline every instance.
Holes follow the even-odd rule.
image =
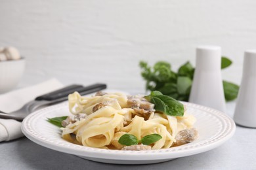
[[[5,93],[0,95],[0,110],[3,112],[18,110],[29,101],[35,99],[35,97],[62,87],[63,85],[58,80],[52,78],[35,86]],[[11,119],[0,119],[0,142],[11,141],[22,136],[21,122]]]

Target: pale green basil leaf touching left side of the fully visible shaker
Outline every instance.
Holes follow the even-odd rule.
[[[188,76],[179,76],[177,79],[177,90],[181,95],[187,94],[188,89],[192,86],[192,80]]]

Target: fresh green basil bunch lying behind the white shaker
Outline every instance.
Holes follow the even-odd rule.
[[[232,64],[226,57],[221,58],[221,69]],[[189,61],[179,67],[178,72],[171,70],[171,64],[158,61],[150,67],[145,61],[140,61],[141,76],[146,80],[146,90],[159,91],[174,99],[188,101],[195,68]],[[238,96],[239,86],[223,80],[226,101],[232,101]]]

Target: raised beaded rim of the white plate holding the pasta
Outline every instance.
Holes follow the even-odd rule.
[[[236,131],[236,125],[234,123],[234,120],[230,118],[227,114],[212,109],[210,107],[205,107],[203,105],[198,105],[195,103],[188,103],[183,102],[187,107],[193,107],[194,109],[199,109],[202,111],[207,112],[207,114],[213,114],[217,116],[218,118],[222,118],[221,120],[224,120],[224,122],[229,123],[230,128],[227,131],[222,131],[222,136],[217,135],[211,141],[207,142],[207,144],[201,142],[200,143],[190,143],[177,146],[173,148],[165,148],[160,150],[140,150],[140,151],[133,151],[133,150],[107,150],[102,148],[91,148],[88,146],[81,146],[73,143],[68,143],[70,147],[66,147],[63,144],[56,144],[54,141],[42,139],[42,137],[39,137],[39,134],[35,133],[33,129],[31,129],[29,122],[32,120],[32,118],[36,118],[39,114],[46,114],[47,112],[51,110],[61,109],[62,107],[67,107],[68,102],[60,103],[57,105],[53,105],[50,107],[45,107],[44,109],[37,110],[33,112],[32,114],[29,114],[22,122],[22,132],[28,139],[33,141],[34,143],[40,144],[41,146],[45,146],[46,148],[51,148],[53,150],[64,152],[68,154],[74,154],[77,156],[83,156],[88,158],[98,158],[98,159],[106,159],[106,160],[163,160],[163,159],[173,159],[173,158],[180,158],[183,156],[190,156],[194,154],[199,154],[202,152],[206,152],[208,150],[212,150],[213,148],[216,148],[217,146],[220,146],[224,142],[226,142],[228,139],[230,139],[235,131]],[[45,138],[45,137],[43,137]],[[217,140],[217,138],[219,138]],[[60,138],[61,139],[61,138]],[[64,140],[64,139],[63,139]],[[82,150],[78,150],[75,148],[83,148]],[[156,154],[158,156],[156,156]],[[139,160],[138,160],[139,159]]]

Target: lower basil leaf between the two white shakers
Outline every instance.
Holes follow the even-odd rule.
[[[224,96],[226,101],[232,101],[238,97],[239,86],[223,80]]]

